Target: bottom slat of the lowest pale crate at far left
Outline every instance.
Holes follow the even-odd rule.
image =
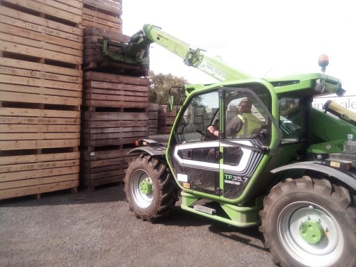
[[[13,188],[0,191],[0,199],[6,199],[9,197],[19,197],[22,195],[32,195],[46,192],[59,191],[67,188],[75,188],[79,186],[79,180],[63,181],[53,184],[44,184],[38,186],[26,186],[22,188]]]

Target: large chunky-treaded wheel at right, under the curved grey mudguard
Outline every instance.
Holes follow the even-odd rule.
[[[275,264],[356,266],[356,209],[343,186],[326,179],[286,179],[259,212],[265,246]]]

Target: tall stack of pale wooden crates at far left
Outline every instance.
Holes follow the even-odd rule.
[[[0,5],[0,199],[76,189],[83,3]]]

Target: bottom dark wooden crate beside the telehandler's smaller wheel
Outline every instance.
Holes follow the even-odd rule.
[[[81,184],[92,190],[96,186],[122,181],[129,161],[136,154],[129,154],[131,148],[83,150],[81,156]]]

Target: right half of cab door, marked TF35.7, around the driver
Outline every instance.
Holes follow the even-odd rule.
[[[270,113],[270,93],[263,86],[253,90],[246,87],[224,88],[220,92],[220,98],[223,102],[220,188],[223,198],[234,200],[241,196],[264,155],[268,153],[272,127],[277,129],[277,122]],[[228,129],[229,122],[238,115],[238,104],[245,98],[252,103],[250,116],[259,120],[261,127],[248,136],[236,136]]]

